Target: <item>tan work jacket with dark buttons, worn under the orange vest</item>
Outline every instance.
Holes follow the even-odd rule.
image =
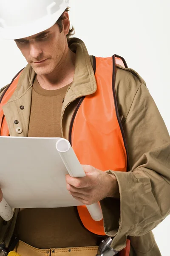
[[[79,97],[96,91],[96,80],[85,44],[72,38],[69,47],[77,53],[74,81],[62,105],[62,136],[68,139],[69,124]],[[27,65],[17,89],[3,107],[10,136],[28,135],[34,70]],[[115,236],[115,250],[125,247],[130,236],[130,256],[160,256],[151,230],[170,213],[170,136],[144,80],[134,70],[116,66],[116,97],[125,131],[130,172],[108,171],[116,176],[120,200],[101,201],[105,233]],[[24,109],[21,110],[20,106]],[[23,130],[17,134],[14,120]],[[0,239],[8,227],[0,222]],[[13,224],[14,228],[14,224]],[[6,243],[11,236],[11,228]]]

